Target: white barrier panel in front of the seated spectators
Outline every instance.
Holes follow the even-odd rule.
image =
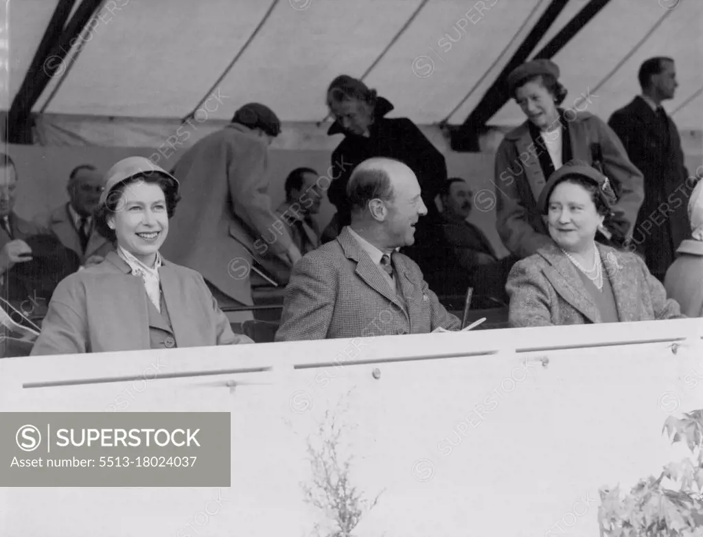
[[[350,486],[382,492],[354,535],[597,536],[600,487],[686,456],[662,426],[703,408],[702,336],[686,319],[6,359],[2,411],[228,411],[232,465],[228,489],[1,489],[0,535],[314,535],[307,445],[334,422]]]

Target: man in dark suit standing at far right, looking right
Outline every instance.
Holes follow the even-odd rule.
[[[642,94],[613,112],[608,124],[645,176],[645,201],[633,230],[633,246],[645,257],[650,272],[664,281],[676,248],[690,232],[686,208],[693,185],[686,181],[676,125],[662,108],[662,101],[673,98],[678,86],[673,60],[646,60],[638,78]]]

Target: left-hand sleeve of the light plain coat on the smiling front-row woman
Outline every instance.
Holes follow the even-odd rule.
[[[78,274],[61,280],[53,292],[32,356],[89,352],[85,287]]]

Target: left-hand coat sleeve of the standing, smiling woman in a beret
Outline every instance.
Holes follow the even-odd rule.
[[[498,146],[495,164],[496,229],[510,253],[525,258],[550,245],[552,239],[536,231],[529,222],[527,207],[518,188],[518,181],[527,183],[520,163],[515,144],[503,140]],[[520,174],[512,175],[511,167],[520,167]]]

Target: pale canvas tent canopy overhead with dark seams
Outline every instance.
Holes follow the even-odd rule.
[[[571,0],[542,48],[586,6]],[[10,101],[58,0],[9,8]],[[209,118],[230,119],[247,101],[284,122],[325,118],[325,89],[360,77],[418,124],[461,124],[548,7],[548,0],[108,0],[34,105],[33,112],[183,118],[215,86]],[[263,22],[263,23],[262,23]],[[638,93],[651,56],[676,60],[676,98],[665,103],[682,130],[703,125],[700,0],[612,0],[553,58],[579,103],[603,119]],[[258,32],[257,27],[260,29]],[[404,30],[404,31],[401,31]],[[250,44],[243,47],[254,34]],[[72,63],[72,59],[76,59]],[[58,91],[56,84],[60,83]],[[203,113],[203,112],[200,112]],[[522,122],[510,101],[489,121]]]

